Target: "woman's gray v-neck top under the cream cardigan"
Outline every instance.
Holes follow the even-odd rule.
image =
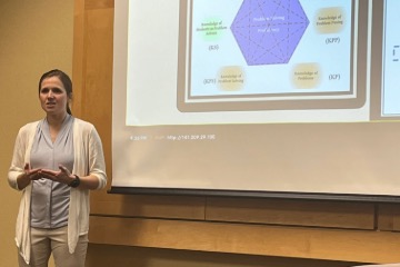
[[[54,142],[51,141],[47,119],[39,122],[30,155],[31,168],[59,171],[63,165],[73,168],[73,117],[67,115]],[[70,187],[66,184],[41,178],[32,184],[31,226],[59,228],[68,225]]]

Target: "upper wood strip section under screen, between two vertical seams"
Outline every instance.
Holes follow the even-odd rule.
[[[287,199],[209,198],[206,219],[374,229],[374,205]]]

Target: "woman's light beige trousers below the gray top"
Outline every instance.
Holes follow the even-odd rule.
[[[48,267],[52,254],[57,267],[84,267],[88,249],[88,235],[80,236],[73,254],[68,249],[67,226],[58,229],[40,229],[31,227],[31,258],[27,265],[19,255],[20,267]]]

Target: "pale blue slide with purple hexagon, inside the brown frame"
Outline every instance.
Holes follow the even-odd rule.
[[[351,0],[194,0],[188,8],[187,102],[354,97]]]

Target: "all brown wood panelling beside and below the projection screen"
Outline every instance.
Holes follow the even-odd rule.
[[[74,16],[73,77],[82,88],[76,110],[97,126],[110,175],[113,1],[76,0]],[[107,191],[91,196],[88,266],[400,261],[399,205]]]

